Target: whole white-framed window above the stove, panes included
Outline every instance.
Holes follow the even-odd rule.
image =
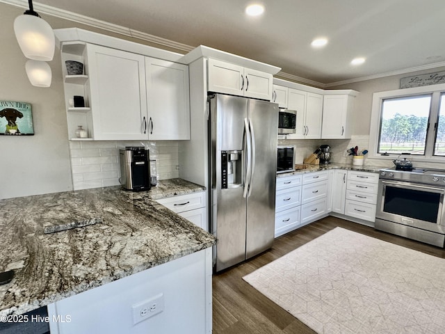
[[[444,161],[445,85],[374,93],[370,141],[376,158]]]

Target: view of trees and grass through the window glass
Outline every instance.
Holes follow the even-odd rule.
[[[378,153],[425,154],[430,104],[431,95],[383,100]]]

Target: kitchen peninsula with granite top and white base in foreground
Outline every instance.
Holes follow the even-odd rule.
[[[68,327],[76,329],[63,333],[86,333],[82,326],[92,320],[100,333],[140,333],[159,321],[207,333],[216,239],[155,201],[204,190],[172,179],[139,193],[111,186],[0,200],[0,271],[15,271],[0,286],[0,315],[49,305],[50,315],[70,312]],[[86,226],[44,233],[73,221]],[[159,294],[162,315],[136,324],[132,308]],[[83,319],[88,312],[94,319]]]

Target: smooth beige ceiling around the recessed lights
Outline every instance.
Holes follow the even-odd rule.
[[[248,0],[38,3],[252,58],[320,86],[445,65],[444,0],[259,0],[266,8],[261,17],[245,15]],[[314,49],[319,36],[329,42]],[[366,62],[350,65],[357,56]]]

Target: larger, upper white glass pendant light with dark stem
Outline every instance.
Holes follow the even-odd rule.
[[[16,17],[14,31],[20,49],[26,58],[35,61],[52,61],[54,57],[54,32],[51,26],[33,10],[33,1],[28,0],[29,10]]]

